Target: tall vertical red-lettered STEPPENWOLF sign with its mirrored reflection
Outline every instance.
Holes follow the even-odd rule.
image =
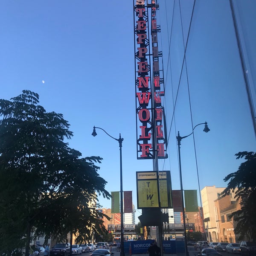
[[[150,3],[149,3],[150,2]],[[166,158],[164,79],[154,0],[134,0],[137,159]]]

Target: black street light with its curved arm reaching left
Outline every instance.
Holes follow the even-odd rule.
[[[108,134],[104,129],[100,127],[95,127],[93,126],[93,137],[95,137],[96,130],[95,129],[101,129],[104,131],[106,134]],[[111,137],[114,140],[117,140],[119,142],[119,148],[120,148],[120,215],[121,215],[121,246],[120,246],[120,256],[125,256],[125,251],[124,251],[124,212],[123,212],[123,191],[122,191],[122,141],[124,140],[121,138],[121,134],[119,134],[119,139],[116,139],[112,137],[111,135],[108,134],[109,137]]]

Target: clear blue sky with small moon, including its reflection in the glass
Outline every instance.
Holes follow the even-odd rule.
[[[200,188],[224,187],[223,178],[241,162],[235,154],[256,148],[229,1],[196,1],[181,75],[182,31],[186,40],[194,1],[181,0],[180,9],[178,1],[158,3],[169,135],[169,158],[160,170],[171,170],[172,187],[180,189],[176,135],[192,132],[189,84],[193,126],[207,121],[210,128],[207,134],[204,126],[195,129]],[[255,73],[256,2],[240,7]],[[0,38],[0,98],[32,90],[47,111],[62,113],[74,132],[70,147],[104,159],[99,174],[109,192],[120,190],[119,145],[101,130],[91,133],[93,125],[116,138],[121,133],[123,190],[133,191],[136,207],[135,173],[151,171],[152,161],[137,160],[136,152],[133,1],[1,0]],[[181,142],[181,160],[183,189],[198,189],[192,136]],[[111,207],[103,198],[100,203]]]

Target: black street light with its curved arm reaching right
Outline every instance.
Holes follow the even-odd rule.
[[[204,125],[204,132],[208,132],[210,131],[210,129],[207,126],[207,122],[204,123],[200,123],[198,125]],[[192,133],[194,132],[194,129],[198,126],[196,125],[193,130]],[[192,134],[191,133],[191,134]],[[180,142],[182,139],[189,137],[191,134],[181,137],[180,136],[180,132],[178,131],[178,136],[177,138],[177,144],[178,144],[178,154],[179,154],[179,166],[180,166],[180,191],[181,191],[181,201],[182,201],[182,215],[183,215],[183,227],[184,227],[184,239],[185,239],[185,253],[186,256],[189,256],[189,252],[188,252],[188,245],[187,245],[187,236],[186,236],[186,218],[185,218],[185,209],[184,209],[184,198],[183,198],[183,185],[182,185],[182,173],[181,173],[181,160],[180,160]]]

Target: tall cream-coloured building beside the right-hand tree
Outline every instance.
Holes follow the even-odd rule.
[[[205,236],[208,241],[218,241],[217,222],[215,218],[216,208],[214,201],[220,197],[220,193],[224,189],[225,188],[216,188],[215,186],[205,186],[201,190]]]

